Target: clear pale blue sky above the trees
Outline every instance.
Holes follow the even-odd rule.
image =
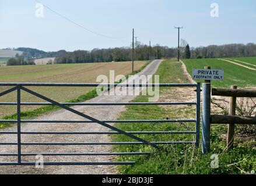
[[[144,44],[177,47],[174,26],[191,47],[247,44],[256,41],[256,1],[0,0],[0,23],[0,48],[129,47],[132,28]]]

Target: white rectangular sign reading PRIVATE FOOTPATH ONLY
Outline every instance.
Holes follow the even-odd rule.
[[[224,80],[224,70],[193,69],[193,80]]]

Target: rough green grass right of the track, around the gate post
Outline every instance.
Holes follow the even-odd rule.
[[[166,60],[160,65],[156,74],[160,75],[160,83],[187,83],[180,63]],[[162,88],[161,94],[172,91]],[[173,90],[173,94],[177,94]],[[171,95],[170,95],[171,96]],[[138,96],[133,102],[147,102],[148,96]],[[127,106],[120,119],[166,119],[195,115],[194,108],[163,108],[161,106]],[[115,124],[125,131],[182,131],[194,130],[194,124]],[[225,126],[213,126],[211,131],[211,149],[208,155],[202,155],[201,148],[194,145],[163,145],[157,151],[146,145],[117,145],[114,152],[153,152],[149,156],[118,156],[118,161],[135,161],[131,166],[118,166],[121,174],[244,174],[256,170],[256,144],[252,141],[235,141],[235,148],[226,152],[226,142],[222,138]],[[193,135],[138,135],[149,141],[191,141]],[[132,141],[124,135],[113,135],[113,141]],[[211,169],[211,155],[219,155],[219,169]]]

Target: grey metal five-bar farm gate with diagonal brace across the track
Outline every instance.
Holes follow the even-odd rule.
[[[174,145],[174,144],[195,144],[197,148],[199,147],[199,130],[200,130],[200,94],[201,94],[201,84],[127,84],[127,87],[196,87],[197,90],[197,100],[195,102],[129,102],[129,103],[60,103],[54,101],[46,96],[38,94],[30,90],[27,87],[98,87],[99,85],[105,87],[116,87],[118,84],[68,84],[68,83],[0,83],[0,87],[13,87],[7,91],[1,92],[0,96],[9,94],[10,92],[17,92],[17,102],[0,102],[0,105],[15,105],[17,106],[17,120],[0,120],[0,123],[17,123],[17,131],[0,131],[1,134],[16,134],[17,142],[0,142],[0,145],[17,145],[17,153],[6,153],[0,154],[0,156],[15,156],[17,157],[17,162],[0,162],[0,165],[4,166],[15,166],[23,165],[30,166],[35,165],[36,162],[23,162],[23,156],[36,156],[38,154],[43,156],[108,156],[108,155],[150,155],[150,152],[124,152],[124,153],[22,153],[22,146],[27,145],[150,145],[153,148],[159,149],[159,145]],[[124,85],[122,85],[124,86]],[[37,96],[47,102],[21,102],[20,94],[21,90],[28,92],[31,95]],[[55,105],[62,109],[68,110],[69,112],[75,113],[76,115],[82,116],[85,120],[23,120],[21,119],[21,106],[27,105]],[[86,106],[110,106],[110,105],[196,105],[196,117],[194,120],[183,119],[183,120],[97,120],[93,117],[85,115],[84,113],[78,112],[70,108],[69,106],[75,105],[86,105]],[[195,123],[195,131],[123,131],[109,123]],[[113,131],[106,132],[42,132],[42,131],[22,131],[22,123],[97,123],[104,127],[109,128]],[[123,134],[127,137],[136,140],[136,142],[22,142],[22,135],[44,135],[44,134],[57,134],[57,135],[106,135],[106,134]],[[149,142],[143,140],[142,138],[136,137],[135,134],[193,134],[195,135],[195,141],[170,141],[170,142]],[[134,164],[135,162],[44,162],[44,165],[48,166],[71,166],[71,165],[117,165],[117,164]]]

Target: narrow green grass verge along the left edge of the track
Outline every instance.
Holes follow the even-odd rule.
[[[143,65],[141,67],[141,69],[134,71],[134,73],[132,73],[132,74],[139,73],[140,71],[145,69],[145,67],[148,66],[150,62],[151,61],[147,62],[145,65]],[[129,75],[132,75],[132,74],[128,74],[127,77]],[[94,90],[89,91],[84,95],[80,95],[78,98],[71,99],[71,100],[66,101],[66,102],[70,102],[70,103],[85,102],[85,101],[88,101],[90,99],[96,98],[97,96],[98,95],[97,95],[97,91],[96,91],[96,88],[95,88]],[[52,112],[52,111],[58,110],[58,109],[61,109],[61,108],[59,108],[58,106],[42,106],[41,108],[38,108],[38,109],[35,109],[35,110],[31,110],[31,111],[27,111],[27,112],[21,112],[21,118],[22,119],[33,119],[35,117],[45,115],[49,112]],[[17,113],[15,113],[13,115],[2,117],[2,120],[16,120],[16,119],[17,119]],[[0,128],[5,128],[5,127],[10,127],[10,123],[1,123],[0,124]]]

